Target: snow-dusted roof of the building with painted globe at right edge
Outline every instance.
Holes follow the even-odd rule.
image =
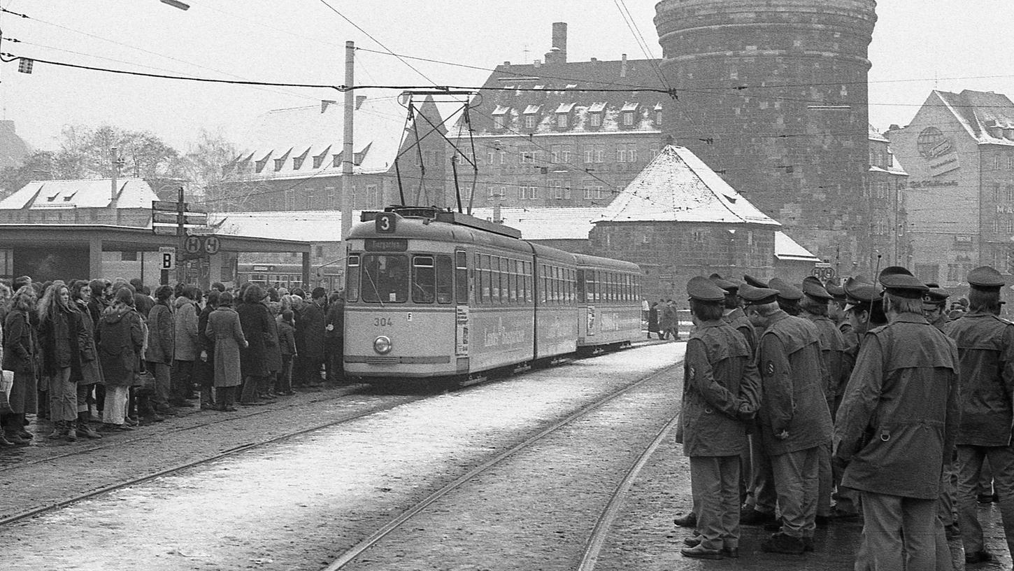
[[[969,89],[933,93],[979,144],[1014,146],[1014,102],[1007,95]]]

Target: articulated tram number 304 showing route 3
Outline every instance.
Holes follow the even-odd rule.
[[[637,265],[534,244],[507,226],[390,207],[364,212],[347,248],[353,376],[467,378],[641,335]]]

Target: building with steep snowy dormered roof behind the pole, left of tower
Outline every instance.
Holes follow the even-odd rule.
[[[415,109],[416,125],[406,117],[396,96],[356,96],[354,208],[401,204],[399,179],[409,204],[451,204],[445,193],[448,145],[434,133],[446,132],[439,110],[427,97]],[[266,114],[244,141],[246,150],[223,167],[222,190],[208,196],[208,209],[340,209],[344,123],[343,105],[332,100]]]

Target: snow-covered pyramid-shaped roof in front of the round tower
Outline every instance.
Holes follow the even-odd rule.
[[[781,226],[685,147],[666,146],[595,222],[716,222]]]

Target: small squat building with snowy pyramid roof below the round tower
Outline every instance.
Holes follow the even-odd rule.
[[[639,264],[648,299],[682,294],[686,281],[719,272],[767,278],[775,233],[765,215],[684,147],[665,147],[594,221],[599,256]]]

